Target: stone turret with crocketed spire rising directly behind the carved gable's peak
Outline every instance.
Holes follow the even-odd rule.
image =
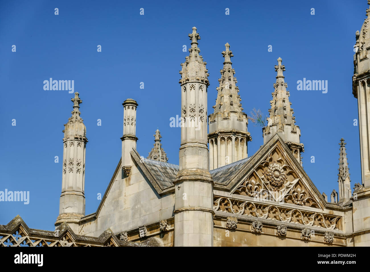
[[[282,59],[277,59],[278,65],[275,65],[277,72],[276,83],[274,83],[275,91],[272,93],[270,101],[271,109],[269,110],[270,117],[266,127],[262,128],[263,144],[266,144],[276,133],[285,141],[292,154],[297,161],[302,165],[302,157],[300,152],[304,152],[304,146],[300,143],[300,129],[295,125],[295,117],[293,116],[292,105],[289,102],[289,91],[286,90],[287,84],[284,82],[283,71],[285,66],[282,65]]]

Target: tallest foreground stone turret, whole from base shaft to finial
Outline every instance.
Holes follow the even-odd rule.
[[[208,169],[206,62],[196,27],[180,71],[181,145],[175,184],[175,246],[213,245],[213,181]]]

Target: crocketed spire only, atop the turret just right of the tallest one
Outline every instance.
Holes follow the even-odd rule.
[[[217,90],[216,105],[213,106],[214,113],[221,112],[223,117],[229,116],[231,111],[242,112],[242,104],[240,104],[241,98],[239,93],[239,88],[236,86],[238,82],[236,77],[234,77],[235,70],[231,67],[231,57],[234,55],[232,51],[229,50],[230,45],[225,44],[226,50],[222,51],[222,56],[225,58],[223,62],[223,69],[220,70],[221,78],[219,78],[219,87]]]

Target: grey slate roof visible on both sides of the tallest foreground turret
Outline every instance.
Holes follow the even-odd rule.
[[[241,159],[240,161],[209,171],[213,182],[215,184],[227,185],[250,158]],[[162,190],[174,186],[173,181],[176,179],[177,172],[179,171],[178,165],[145,158],[142,158],[142,162],[154,176]]]

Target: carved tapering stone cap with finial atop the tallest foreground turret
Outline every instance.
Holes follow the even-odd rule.
[[[191,47],[189,48],[189,56],[185,57],[185,62],[181,64],[182,69],[180,71],[181,79],[180,84],[185,84],[189,81],[198,80],[199,82],[209,85],[208,81],[208,70],[206,68],[206,62],[203,61],[203,57],[199,56],[201,50],[198,48],[198,40],[201,39],[199,33],[196,33],[196,27],[193,27],[193,32],[189,34],[191,40]]]

